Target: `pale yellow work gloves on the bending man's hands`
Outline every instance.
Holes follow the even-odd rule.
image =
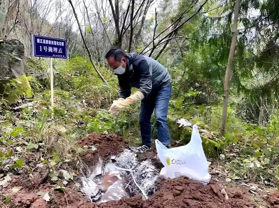
[[[128,105],[131,105],[137,101],[140,101],[144,98],[144,95],[140,92],[137,91],[133,95],[129,96],[128,98],[124,100],[118,99],[117,101],[113,101],[110,110],[108,110],[109,113],[112,115],[118,115],[118,113],[121,110],[124,110]]]

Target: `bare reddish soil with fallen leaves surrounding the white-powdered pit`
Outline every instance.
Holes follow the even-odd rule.
[[[77,161],[62,163],[60,169],[63,168],[67,170],[66,173],[73,173],[72,175],[63,175],[63,172],[62,176],[53,176],[53,172],[49,172],[49,168],[43,163],[34,167],[32,172],[20,171],[10,174],[1,190],[2,196],[10,197],[10,202],[7,205],[2,204],[1,207],[279,207],[278,191],[255,183],[246,183],[240,178],[228,180],[226,169],[213,161],[209,168],[212,178],[208,185],[202,185],[187,177],[158,177],[154,192],[146,200],[143,200],[140,194],[136,194],[118,201],[93,203],[81,193],[81,178],[86,173],[90,175],[90,167],[94,167],[100,158],[103,161],[109,160],[112,155],[118,155],[130,147],[122,137],[106,134],[90,134],[79,139],[78,145],[81,148],[87,146],[94,149],[81,152]],[[30,161],[36,160],[36,155],[33,157]],[[150,159],[158,171],[162,168],[155,150],[140,153],[137,159],[140,162]],[[58,178],[64,179],[61,180],[61,186],[54,182]]]

